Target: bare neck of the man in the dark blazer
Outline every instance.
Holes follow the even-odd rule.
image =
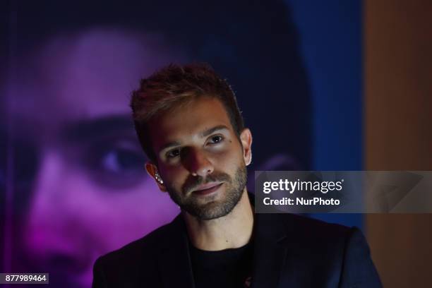
[[[224,217],[199,220],[184,212],[188,236],[193,246],[206,251],[239,248],[248,244],[253,230],[253,210],[246,188],[239,203]]]

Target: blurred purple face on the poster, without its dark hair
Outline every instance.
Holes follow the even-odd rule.
[[[90,287],[97,257],[178,214],[145,173],[128,107],[140,78],[181,59],[161,43],[91,30],[52,40],[22,64],[7,103],[14,271],[49,272],[50,287]]]

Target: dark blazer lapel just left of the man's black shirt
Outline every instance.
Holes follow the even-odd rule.
[[[163,287],[193,288],[193,275],[189,256],[188,236],[181,215],[172,222],[169,239],[162,241],[157,259]]]

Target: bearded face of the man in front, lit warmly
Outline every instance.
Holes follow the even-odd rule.
[[[224,106],[201,97],[149,123],[157,170],[172,200],[201,220],[227,215],[246,186],[251,137],[236,136]]]

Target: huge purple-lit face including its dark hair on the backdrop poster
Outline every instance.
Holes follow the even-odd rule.
[[[231,83],[255,137],[251,174],[309,167],[308,85],[287,6],[166,5],[11,9],[18,18],[4,37],[11,50],[1,74],[2,271],[90,287],[98,256],[178,214],[145,174],[128,107],[140,78],[169,63],[205,61]]]

